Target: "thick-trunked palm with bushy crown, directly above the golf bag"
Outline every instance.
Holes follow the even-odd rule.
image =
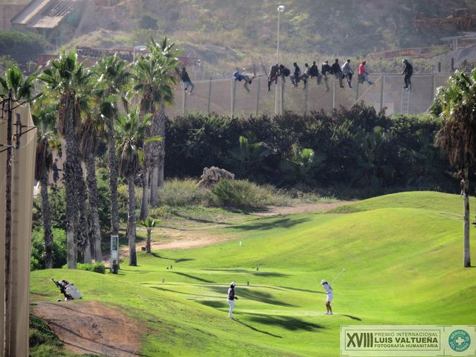
[[[68,268],[75,269],[78,248],[85,262],[90,262],[90,248],[85,206],[85,183],[81,168],[78,128],[80,128],[80,89],[92,73],[79,63],[74,51],[64,50],[58,59],[51,60],[39,75],[49,92],[59,101],[59,133],[66,140],[66,162],[63,177],[66,186],[66,240]]]

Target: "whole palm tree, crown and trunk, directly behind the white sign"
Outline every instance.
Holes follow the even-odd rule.
[[[121,60],[116,54],[111,57],[102,57],[96,63],[95,71],[99,77],[98,85],[104,90],[101,103],[101,114],[106,118],[107,152],[109,161],[109,190],[111,193],[111,235],[119,232],[119,209],[117,201],[117,159],[116,142],[114,141],[114,121],[117,118],[117,102],[119,95],[123,94],[128,85],[126,61]],[[128,103],[124,96],[121,99],[126,111]]]

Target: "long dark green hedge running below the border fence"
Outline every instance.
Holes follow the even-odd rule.
[[[397,187],[454,190],[448,161],[433,144],[439,127],[426,116],[389,117],[364,104],[332,116],[188,115],[167,124],[165,174],[197,177],[214,165],[237,178],[294,186],[303,179],[290,179],[282,163],[298,145],[314,150],[320,160],[305,180],[315,187],[365,188],[370,194]],[[248,138],[246,150],[240,147],[241,135]]]

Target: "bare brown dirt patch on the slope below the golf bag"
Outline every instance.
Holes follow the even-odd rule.
[[[104,356],[138,356],[142,327],[118,310],[97,301],[38,303],[33,313],[49,327],[73,353]],[[134,333],[118,333],[133,331]]]

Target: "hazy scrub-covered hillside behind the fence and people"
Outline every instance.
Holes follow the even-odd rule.
[[[440,37],[456,30],[418,32],[413,20],[476,8],[474,0],[281,3],[286,6],[281,14],[285,62],[441,44]],[[268,66],[276,57],[276,30],[274,1],[127,0],[112,8],[87,6],[70,46],[130,48],[147,43],[150,36],[167,35],[181,43],[185,55],[201,59],[207,72],[221,73],[224,67],[248,66],[252,58]]]

